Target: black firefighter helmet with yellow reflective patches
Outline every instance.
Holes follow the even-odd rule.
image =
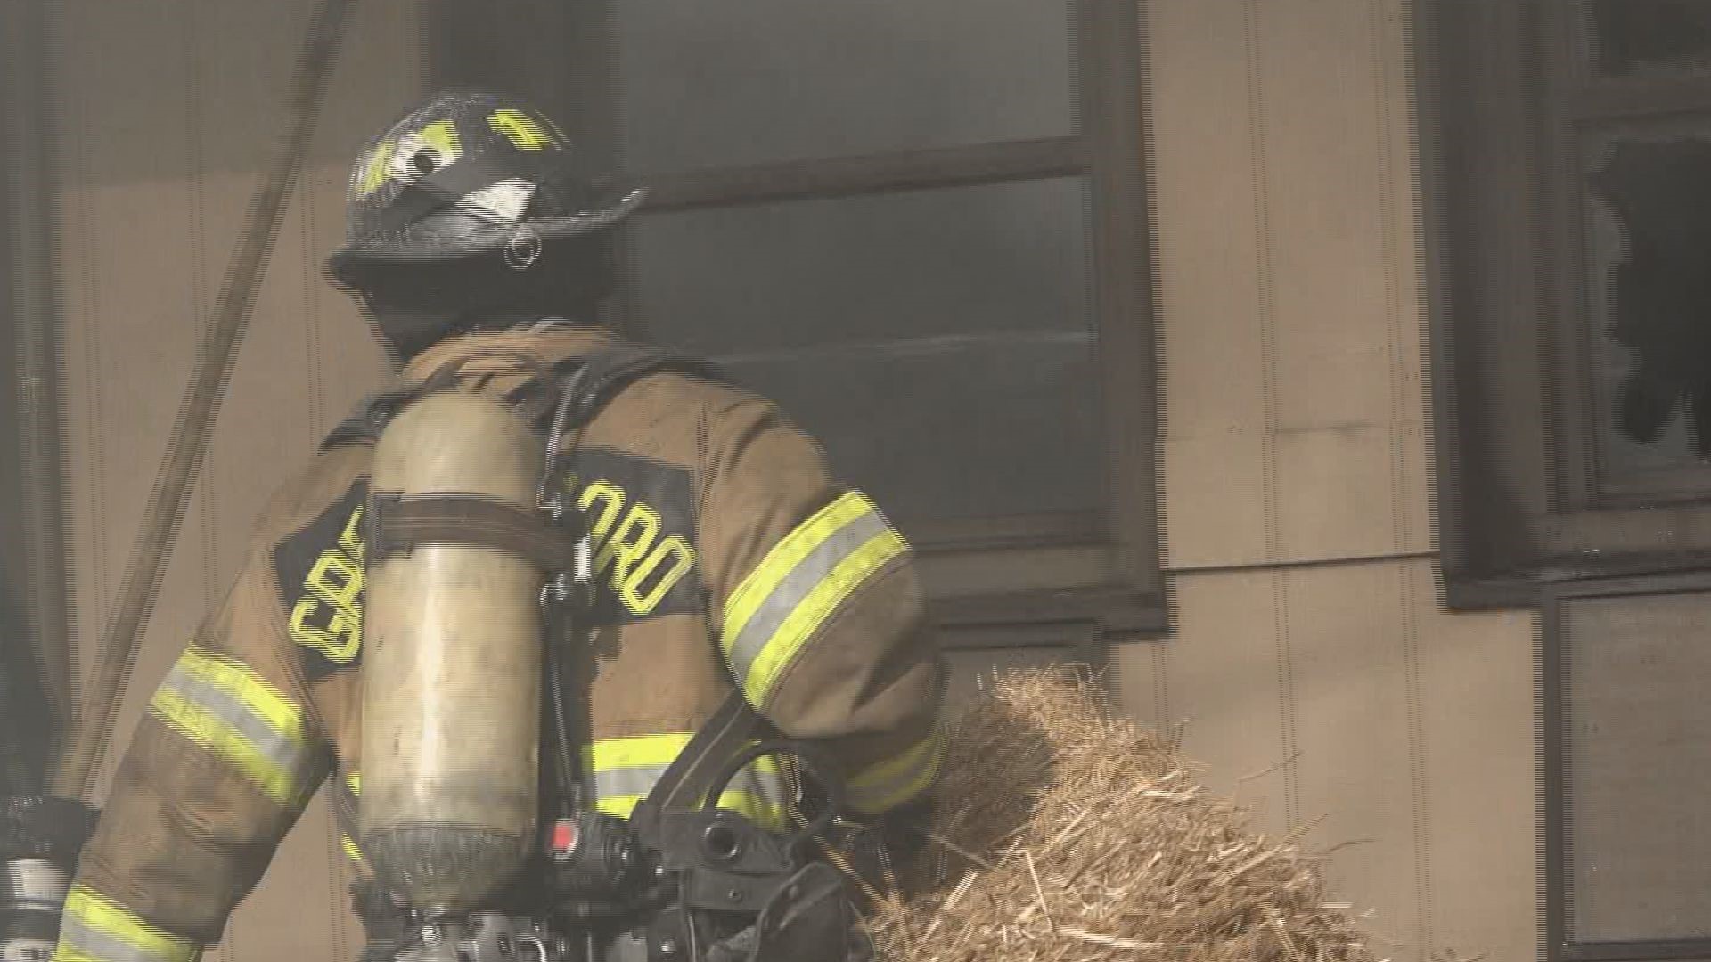
[[[589,289],[607,289],[607,236],[643,192],[602,183],[585,166],[577,144],[525,101],[435,94],[358,154],[346,245],[329,257],[329,274],[370,298],[388,284],[443,284],[433,279],[448,269],[464,270],[460,288],[539,289],[571,272],[590,274]],[[604,253],[549,257],[544,270],[530,270],[542,250],[577,246]],[[448,300],[464,310],[479,303],[465,294],[452,291]]]

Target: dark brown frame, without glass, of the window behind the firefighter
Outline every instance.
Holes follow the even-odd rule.
[[[802,159],[693,173],[648,175],[638,212],[741,207],[782,200],[873,197],[1080,176],[1088,183],[1090,293],[1100,375],[1104,507],[1080,515],[1009,515],[914,526],[929,604],[951,628],[1092,621],[1104,633],[1167,630],[1157,519],[1157,401],[1153,337],[1153,250],[1146,202],[1143,116],[1145,38],[1133,0],[1064,0],[1076,53],[1075,132],[1066,137]],[[438,0],[429,12],[429,77],[435,86],[481,79],[530,96],[566,118],[590,151],[607,159],[618,142],[616,43],[609,7],[556,12],[546,0],[506,0],[525,17],[479,19]],[[553,19],[558,17],[554,22]],[[494,27],[494,22],[505,22]],[[527,24],[518,27],[513,24]],[[494,31],[505,31],[494,38]],[[525,53],[530,65],[505,65],[534,36],[571,36],[559,56]],[[544,31],[544,33],[542,33]],[[471,43],[472,34],[486,39]],[[471,56],[476,48],[476,62]],[[460,60],[462,58],[462,60]],[[573,96],[571,91],[594,91]],[[619,238],[623,289],[613,327],[645,339],[635,312],[633,253]]]

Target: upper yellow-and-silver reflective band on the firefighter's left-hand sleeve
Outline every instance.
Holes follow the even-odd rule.
[[[294,808],[310,762],[303,712],[250,668],[186,649],[149,702],[168,727]]]

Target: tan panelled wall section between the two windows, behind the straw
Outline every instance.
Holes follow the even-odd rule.
[[[1434,587],[1405,0],[1146,17],[1175,630],[1122,702],[1271,828],[1324,818],[1389,957],[1530,959],[1531,618]]]

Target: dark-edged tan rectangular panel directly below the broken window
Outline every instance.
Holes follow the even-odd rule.
[[[1704,573],[1543,594],[1552,960],[1711,957],[1708,616]]]

